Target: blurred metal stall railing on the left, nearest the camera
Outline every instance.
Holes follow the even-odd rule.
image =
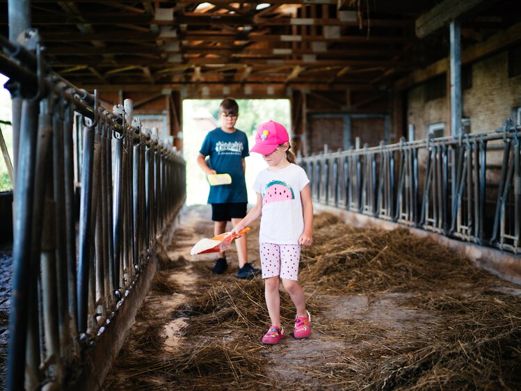
[[[186,167],[130,106],[111,113],[96,91],[52,72],[37,31],[24,33],[24,45],[0,36],[0,47],[0,72],[22,99],[6,389],[64,388],[184,202]]]

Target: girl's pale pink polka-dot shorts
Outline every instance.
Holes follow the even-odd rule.
[[[262,278],[280,276],[286,280],[298,280],[300,246],[298,244],[259,244]]]

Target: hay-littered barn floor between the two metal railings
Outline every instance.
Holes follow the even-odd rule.
[[[519,287],[466,263],[421,264],[437,252],[422,245],[419,266],[403,263],[410,261],[404,251],[414,247],[404,230],[397,233],[404,247],[396,250],[396,261],[394,248],[385,244],[396,237],[371,236],[326,217],[301,266],[312,336],[292,337],[294,308],[281,288],[287,337],[264,346],[269,320],[262,279],[234,278],[233,245],[223,276],[209,271],[215,255],[189,255],[199,239],[212,236],[209,215],[207,206],[182,213],[173,243],[161,255],[163,271],[104,390],[521,389]],[[333,240],[328,225],[350,239]],[[248,256],[259,267],[257,227]],[[440,257],[451,255],[443,251]],[[344,269],[350,273],[345,282]]]

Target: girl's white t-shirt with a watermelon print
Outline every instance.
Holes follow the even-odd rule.
[[[262,194],[260,243],[298,244],[304,231],[300,190],[310,183],[305,170],[291,163],[282,170],[262,170],[253,184]]]

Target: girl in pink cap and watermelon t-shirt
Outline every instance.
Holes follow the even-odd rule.
[[[296,165],[289,152],[289,136],[278,122],[268,121],[257,128],[250,152],[262,154],[268,168],[262,170],[253,189],[257,205],[232,230],[236,233],[261,218],[259,250],[266,305],[271,327],[262,338],[264,344],[277,344],[284,337],[280,324],[279,278],[296,307],[294,337],[311,334],[311,315],[305,307],[303,289],[298,285],[300,246],[312,244],[313,205],[305,171]]]

